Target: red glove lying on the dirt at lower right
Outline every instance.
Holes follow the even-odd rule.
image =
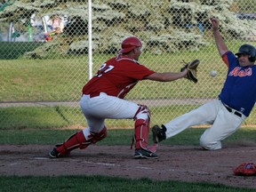
[[[239,164],[234,170],[235,175],[252,176],[256,175],[256,165],[253,163]]]

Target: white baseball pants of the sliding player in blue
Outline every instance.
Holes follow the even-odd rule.
[[[221,140],[228,138],[243,124],[246,116],[241,117],[229,112],[220,100],[212,100],[187,114],[174,118],[167,124],[166,139],[199,124],[212,124],[200,138],[200,145],[209,150],[222,148]]]

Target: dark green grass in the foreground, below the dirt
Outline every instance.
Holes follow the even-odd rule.
[[[232,188],[220,184],[191,183],[181,181],[156,181],[148,179],[131,180],[103,176],[59,176],[59,177],[17,177],[1,176],[0,185],[2,192],[26,191],[97,191],[97,192],[251,192],[254,189]],[[13,183],[15,185],[13,185]]]

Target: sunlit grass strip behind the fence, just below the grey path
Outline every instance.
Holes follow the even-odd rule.
[[[189,105],[151,108],[152,124],[164,124],[169,122],[173,116],[179,116],[192,108]],[[161,116],[161,119],[154,118],[156,113]],[[3,118],[0,121],[0,130],[51,129],[52,127],[58,128],[81,124],[81,122],[86,126],[86,121],[80,107],[46,106],[39,108],[32,106],[0,108],[0,116]],[[113,126],[132,128],[134,122],[131,119],[107,119],[106,124],[109,128]]]

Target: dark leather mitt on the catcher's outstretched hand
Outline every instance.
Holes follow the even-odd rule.
[[[200,63],[200,60],[193,60],[192,62],[186,63],[184,60],[183,62],[186,64],[183,68],[180,68],[180,72],[184,71],[187,68],[187,77],[188,80],[193,81],[195,84],[197,83],[198,79],[196,76],[197,67]]]

